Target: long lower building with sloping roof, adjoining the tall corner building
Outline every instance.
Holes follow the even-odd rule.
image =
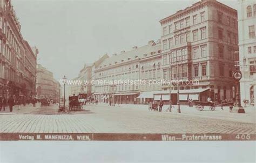
[[[143,65],[140,65],[140,59],[157,56],[159,50],[159,44],[151,40],[147,45],[134,46],[130,51],[121,51],[119,55],[115,53],[106,58],[95,69],[95,80],[98,81],[95,83],[96,99],[108,101],[114,97],[112,100],[115,103],[134,103],[134,99],[140,92],[139,86],[144,85],[139,82],[140,73],[145,75],[144,79],[152,79],[153,71],[157,71],[159,66],[158,63],[153,65],[152,62],[152,68],[150,68],[151,62],[146,59],[142,60]],[[152,59],[155,58],[152,57]],[[140,72],[141,70],[142,72]],[[147,83],[147,80],[144,83]]]

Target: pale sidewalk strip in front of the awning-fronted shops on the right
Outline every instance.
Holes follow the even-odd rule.
[[[148,105],[134,105],[134,104],[120,104],[115,106],[108,106],[108,104],[100,103],[98,105],[107,106],[107,107],[120,107],[123,109],[131,109],[131,110],[139,110],[139,111],[149,111]],[[223,119],[223,120],[231,120],[238,121],[242,123],[254,123],[256,124],[256,108],[255,107],[245,107],[245,114],[237,113],[237,111],[233,110],[230,112],[229,107],[223,107],[224,111],[221,110],[221,107],[216,107],[215,111],[211,111],[208,106],[204,108],[203,111],[198,111],[196,106],[188,107],[187,105],[180,105],[181,113],[177,112],[177,105],[173,105],[174,109],[172,112],[166,112],[166,109],[169,105],[164,105],[162,108],[162,114],[180,114],[180,115],[189,115],[195,117],[204,117],[204,118],[214,118],[214,119]],[[153,111],[154,112],[154,111]],[[158,112],[159,113],[159,112]]]

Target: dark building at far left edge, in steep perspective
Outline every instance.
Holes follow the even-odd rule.
[[[36,57],[21,35],[11,2],[0,1],[0,96],[35,94]]]

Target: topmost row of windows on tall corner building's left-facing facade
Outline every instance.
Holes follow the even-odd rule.
[[[200,22],[198,21],[200,19]],[[196,25],[198,23],[204,22],[206,20],[205,11],[200,12],[200,15],[196,14],[193,15],[193,25]],[[174,26],[174,28],[173,28]],[[179,21],[174,22],[173,24],[170,24],[169,26],[165,26],[163,28],[163,35],[167,35],[172,33],[173,31],[176,31],[178,29],[183,29],[190,26],[190,17],[186,17],[183,19],[180,19]]]

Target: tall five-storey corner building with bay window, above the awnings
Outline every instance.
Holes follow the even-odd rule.
[[[163,78],[196,81],[180,85],[183,92],[208,88],[212,99],[232,98],[232,72],[239,59],[237,11],[215,0],[202,0],[161,19],[160,24]]]

